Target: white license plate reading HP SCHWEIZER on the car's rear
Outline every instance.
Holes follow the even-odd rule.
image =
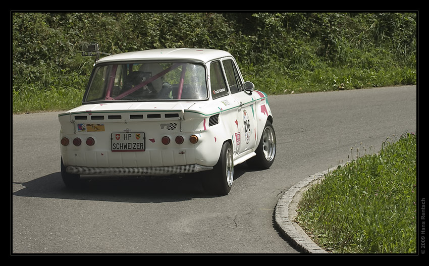
[[[144,133],[112,133],[112,151],[144,151]]]

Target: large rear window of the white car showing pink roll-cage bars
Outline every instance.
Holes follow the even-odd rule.
[[[84,102],[206,99],[205,68],[196,63],[137,62],[95,67]]]

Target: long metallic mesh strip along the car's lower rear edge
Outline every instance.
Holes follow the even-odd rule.
[[[66,171],[78,175],[106,175],[106,176],[159,176],[197,173],[212,170],[212,167],[201,165],[162,166],[162,167],[82,167],[68,166]]]

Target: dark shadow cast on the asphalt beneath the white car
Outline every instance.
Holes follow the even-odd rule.
[[[234,181],[251,172],[247,166],[234,168]],[[174,202],[193,198],[217,197],[205,193],[201,185],[204,172],[191,176],[144,177],[144,178],[109,178],[91,179],[82,188],[73,190],[65,187],[61,173],[52,173],[22,185],[13,192],[14,196],[64,198],[116,202]],[[16,188],[16,187],[14,187]],[[230,193],[233,193],[234,185]]]

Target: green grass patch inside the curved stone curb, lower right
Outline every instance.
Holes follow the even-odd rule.
[[[416,138],[388,139],[329,173],[305,193],[297,222],[336,253],[415,253]]]

